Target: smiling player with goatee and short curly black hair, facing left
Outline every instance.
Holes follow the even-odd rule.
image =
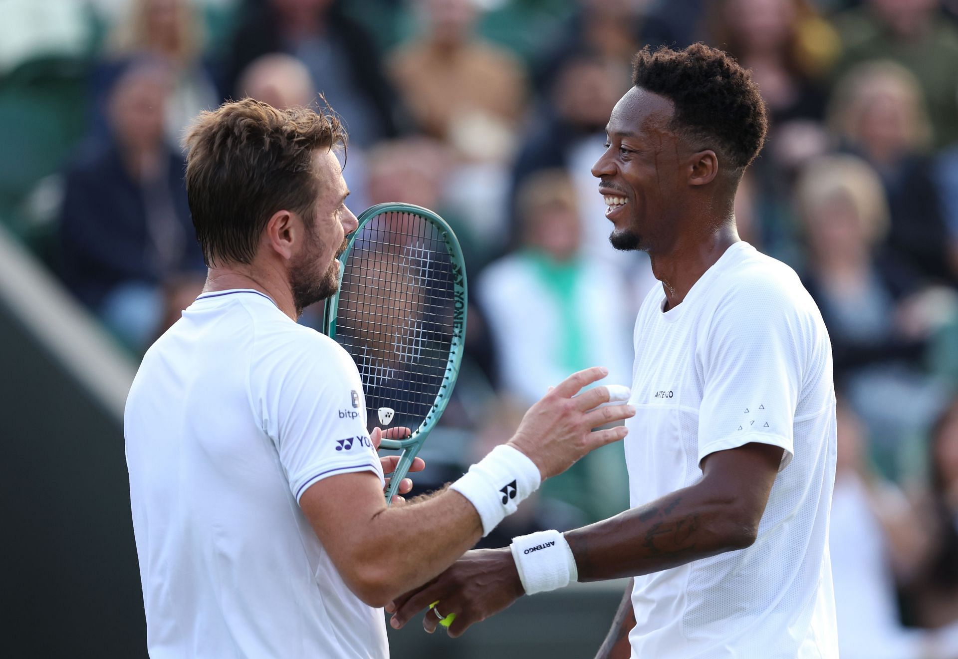
[[[635,323],[631,510],[470,552],[388,608],[439,600],[452,635],[570,580],[631,583],[598,657],[837,657],[832,350],[794,271],[736,232],[764,141],[747,71],[702,44],[641,51],[592,173],[617,249],[661,287]],[[424,625],[435,629],[435,616]]]

